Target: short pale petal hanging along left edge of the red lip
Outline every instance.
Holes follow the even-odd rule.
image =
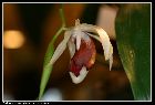
[[[70,41],[68,42],[68,46],[69,46],[70,55],[71,55],[71,59],[72,59],[74,53],[75,53],[74,40],[70,39]]]

